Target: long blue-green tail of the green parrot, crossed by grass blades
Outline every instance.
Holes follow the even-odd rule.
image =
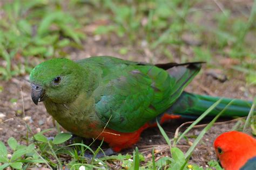
[[[220,97],[212,97],[206,95],[196,95],[187,92],[183,92],[178,100],[166,111],[169,114],[178,115],[201,115],[205,110],[211,107],[211,105],[217,102]],[[243,101],[232,98],[223,98],[220,104],[215,107],[208,116],[215,116],[223,110],[228,103],[232,101],[232,104],[223,112],[222,116],[247,116],[252,107],[252,102]],[[255,110],[254,110],[255,111]]]

